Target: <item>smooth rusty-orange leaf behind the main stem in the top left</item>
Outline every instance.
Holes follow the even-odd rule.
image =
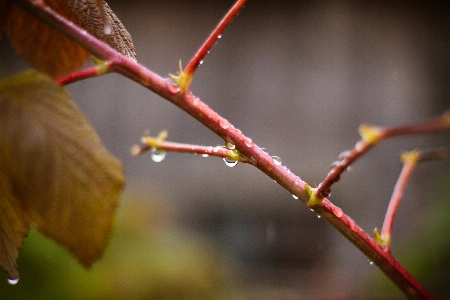
[[[76,22],[64,1],[45,3]],[[79,69],[89,59],[90,54],[84,48],[15,5],[11,6],[7,22],[11,45],[33,68],[53,78]]]

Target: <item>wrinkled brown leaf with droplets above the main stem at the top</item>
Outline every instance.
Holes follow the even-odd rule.
[[[128,58],[136,60],[131,35],[102,0],[66,0],[81,25]]]

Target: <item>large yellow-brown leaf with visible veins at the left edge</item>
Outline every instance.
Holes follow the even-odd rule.
[[[0,85],[0,136],[0,170],[23,211],[90,266],[111,232],[120,162],[65,90],[36,72]]]

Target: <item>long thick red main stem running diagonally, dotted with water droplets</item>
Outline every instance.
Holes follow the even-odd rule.
[[[223,138],[225,142],[234,144],[241,155],[249,160],[250,164],[274,179],[291,194],[296,195],[302,202],[308,202],[308,195],[305,192],[305,188],[308,185],[303,180],[290,172],[286,167],[275,164],[270,155],[253,144],[251,139],[244,136],[239,129],[210,109],[199,98],[191,93],[180,93],[178,87],[168,80],[128,59],[92,35],[83,35],[82,29],[68,22],[51,8],[44,5],[42,1],[13,0],[13,2],[77,42],[98,58],[114,61],[112,71],[143,85],[184,110],[205,127]],[[448,123],[450,124],[450,122]],[[383,251],[383,248],[362,228],[328,199],[323,199],[319,206],[314,207],[314,210],[373,261],[408,297],[412,299],[433,298],[403,266],[391,255]]]

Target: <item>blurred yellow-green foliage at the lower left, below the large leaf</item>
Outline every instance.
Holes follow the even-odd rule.
[[[173,225],[154,202],[125,199],[105,255],[85,270],[32,230],[19,257],[21,279],[0,281],[0,299],[223,299],[230,265],[211,241]]]

